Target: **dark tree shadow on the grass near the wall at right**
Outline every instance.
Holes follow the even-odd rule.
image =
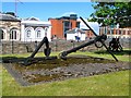
[[[95,51],[95,53],[97,53],[97,54],[109,54],[109,52],[108,51],[104,51],[104,50],[102,50],[102,51]],[[112,53],[114,54],[117,54],[117,56],[123,56],[123,54],[127,54],[127,56],[130,56],[131,54],[131,50],[123,50],[123,51],[112,51]]]

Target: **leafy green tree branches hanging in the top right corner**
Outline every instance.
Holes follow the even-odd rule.
[[[131,1],[130,2],[96,2],[95,10],[88,19],[90,22],[98,22],[102,26],[117,25],[131,27]]]

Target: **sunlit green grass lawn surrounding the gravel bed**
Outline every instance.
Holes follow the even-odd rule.
[[[24,54],[28,57],[31,53]],[[57,56],[58,52],[52,53]],[[74,53],[72,53],[74,54]],[[108,53],[76,52],[112,59]],[[22,54],[5,54],[2,57],[23,57]],[[37,53],[36,57],[41,57]],[[44,54],[43,54],[44,56]],[[129,62],[128,54],[116,54],[120,61]],[[40,85],[23,87],[0,65],[2,70],[2,96],[129,96],[129,71],[114,72],[81,78],[71,78]]]

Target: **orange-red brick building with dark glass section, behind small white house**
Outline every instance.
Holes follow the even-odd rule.
[[[70,14],[70,16],[62,16],[56,19],[49,19],[51,22],[51,36],[58,38],[66,38],[66,32],[75,27],[80,28],[80,21],[78,21],[76,14]]]

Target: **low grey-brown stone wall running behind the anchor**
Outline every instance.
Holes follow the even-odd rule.
[[[108,46],[109,41],[111,39],[107,39],[106,40],[106,45]],[[71,49],[73,47],[76,47],[79,45],[82,45],[86,41],[71,41],[71,40],[53,40],[50,41],[50,48],[52,51],[63,51],[63,50],[68,50]],[[122,47],[124,48],[129,48],[130,47],[130,40],[120,40],[120,44]],[[39,42],[37,42],[38,45]],[[34,41],[29,41],[29,42],[22,42],[22,41],[1,41],[0,42],[0,53],[1,54],[11,54],[11,53],[27,53],[27,52],[33,52],[37,46]],[[39,49],[39,52],[44,51],[45,45]],[[104,49],[104,48],[100,48]],[[95,45],[92,46],[87,46],[83,49],[81,49],[83,51],[94,51],[94,50],[98,50]]]

